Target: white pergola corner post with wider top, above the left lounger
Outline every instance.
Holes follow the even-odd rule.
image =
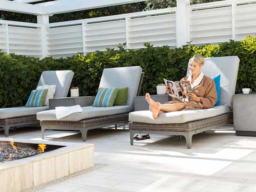
[[[47,57],[47,29],[46,24],[49,24],[49,15],[38,15],[37,16],[38,24],[41,26],[41,44],[42,44],[42,57]]]

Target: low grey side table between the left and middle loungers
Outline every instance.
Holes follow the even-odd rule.
[[[55,109],[55,107],[69,107],[74,105],[80,105],[81,107],[91,106],[95,96],[84,97],[63,97],[49,99],[49,110]]]

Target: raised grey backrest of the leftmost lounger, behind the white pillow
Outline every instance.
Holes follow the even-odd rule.
[[[56,85],[54,98],[67,97],[67,93],[70,89],[74,72],[71,70],[65,71],[44,71],[38,82],[40,85]],[[37,87],[38,87],[37,86]]]

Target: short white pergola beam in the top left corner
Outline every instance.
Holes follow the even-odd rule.
[[[8,0],[0,0],[0,10],[7,12],[26,13],[31,15],[40,15],[41,7],[27,3],[20,3]]]

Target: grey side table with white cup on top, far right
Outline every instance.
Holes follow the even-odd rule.
[[[256,93],[233,95],[236,135],[256,136]]]

